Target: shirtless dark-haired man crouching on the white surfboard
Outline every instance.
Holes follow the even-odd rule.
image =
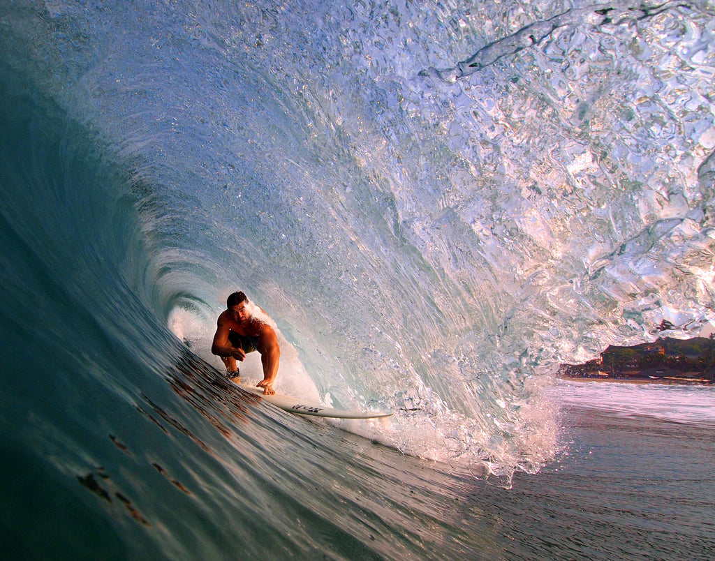
[[[226,307],[217,319],[211,352],[221,357],[226,365],[226,376],[240,382],[236,361],[243,361],[247,352],[258,351],[263,379],[256,385],[262,387],[266,395],[275,394],[273,382],[278,374],[280,347],[275,329],[267,322],[268,316],[260,307],[249,302],[243,292],[231,294],[226,300]]]

